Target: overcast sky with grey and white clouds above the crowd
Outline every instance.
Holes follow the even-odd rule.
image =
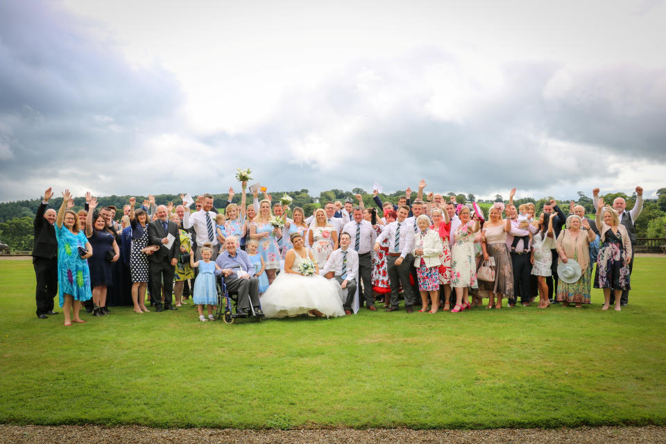
[[[666,2],[0,2],[0,201],[666,187]]]

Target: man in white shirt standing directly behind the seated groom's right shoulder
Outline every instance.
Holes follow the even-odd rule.
[[[366,307],[370,311],[375,309],[375,297],[373,296],[373,261],[370,250],[375,245],[377,233],[373,230],[373,225],[363,219],[363,209],[355,207],[353,209],[354,220],[345,223],[342,232],[348,232],[352,237],[352,248],[359,253],[359,269],[357,275],[363,281],[363,296],[366,301]],[[341,239],[342,242],[342,239]],[[361,299],[361,305],[363,300]]]

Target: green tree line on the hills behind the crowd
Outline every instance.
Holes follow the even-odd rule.
[[[291,207],[302,207],[305,211],[305,214],[311,214],[316,208],[323,206],[328,201],[341,200],[343,203],[345,200],[350,200],[355,205],[357,204],[357,199],[355,196],[361,194],[363,198],[364,205],[366,207],[371,207],[375,205],[373,201],[373,195],[367,193],[364,189],[354,188],[352,191],[344,191],[341,189],[330,189],[328,191],[322,191],[321,194],[317,197],[312,197],[309,195],[307,189],[300,189],[298,191],[275,191],[271,193],[271,197],[274,202],[280,200],[282,195],[287,194],[293,198]],[[379,198],[382,199],[382,202],[390,200],[395,203],[398,200],[398,197],[404,196],[404,191],[395,191],[391,194],[380,193]],[[462,194],[454,193],[453,191],[446,194],[448,196],[455,196],[457,203],[467,203],[475,201],[476,198],[473,194]],[[137,198],[137,203],[143,202],[144,199],[147,199],[148,196],[135,196]],[[221,207],[221,205],[228,200],[229,194],[214,194],[214,203],[216,207]],[[259,196],[262,198],[262,196]],[[617,197],[622,197],[626,199],[627,208],[632,208],[635,203],[635,193],[631,196],[627,196],[624,193],[609,193],[601,195],[606,202],[612,203],[613,200]],[[118,208],[116,212],[116,219],[120,220],[123,212],[123,205],[128,203],[130,196],[101,196],[97,198],[99,207],[114,205]],[[416,193],[412,193],[411,198],[416,198]],[[425,198],[425,196],[424,196]],[[543,197],[540,199],[535,199],[531,197],[524,197],[515,200],[516,205],[521,203],[533,202],[538,209],[543,207],[543,204],[550,200],[551,197]],[[252,195],[248,194],[248,204],[252,200]],[[592,198],[586,196],[582,191],[578,191],[577,199],[574,200],[576,205],[583,205],[585,207],[588,216],[594,218],[595,208],[592,203]],[[240,203],[241,196],[236,194],[232,199],[234,203]],[[490,202],[502,202],[504,198],[500,194],[495,195],[495,199],[487,200],[487,205],[481,205],[487,212],[487,207],[490,205]],[[180,195],[178,194],[156,194],[155,203],[157,205],[166,205],[169,202],[173,202],[174,205],[181,203]],[[35,214],[37,214],[37,208],[42,203],[41,198],[30,199],[30,200],[15,200],[14,202],[0,203],[0,241],[3,244],[7,244],[12,250],[32,250],[33,248],[33,219],[35,219]],[[569,203],[570,200],[561,200],[558,201],[558,205],[562,208],[565,214],[569,213]],[[49,207],[58,210],[62,204],[61,197],[53,197],[49,201]],[[76,197],[74,198],[74,208],[73,210],[78,211],[82,209],[85,205],[85,197]],[[487,214],[486,214],[487,216]],[[657,198],[651,200],[644,200],[643,210],[636,221],[636,233],[638,237],[666,237],[666,231],[664,224],[666,223],[666,188],[658,189]]]

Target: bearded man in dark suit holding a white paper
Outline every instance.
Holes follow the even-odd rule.
[[[173,293],[173,272],[178,263],[180,253],[180,232],[178,225],[169,221],[167,207],[159,205],[155,213],[157,220],[148,223],[148,244],[159,246],[160,249],[148,256],[148,270],[151,276],[151,296],[155,301],[155,310],[177,310],[171,305]],[[173,239],[169,239],[169,234]],[[171,248],[167,244],[171,241]],[[160,284],[164,288],[164,307],[160,298]]]

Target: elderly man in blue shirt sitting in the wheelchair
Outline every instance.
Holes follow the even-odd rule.
[[[227,237],[224,247],[225,251],[215,261],[221,268],[215,271],[215,275],[222,275],[227,291],[238,295],[236,315],[244,318],[250,310],[255,316],[264,316],[259,305],[259,280],[255,277],[255,265],[250,261],[248,253],[238,248],[236,237]]]

